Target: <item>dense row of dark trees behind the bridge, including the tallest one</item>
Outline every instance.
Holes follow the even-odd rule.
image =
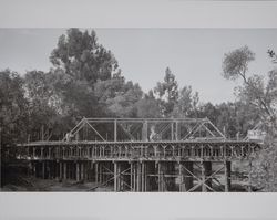
[[[57,140],[82,117],[208,117],[227,137],[245,136],[259,114],[244,102],[199,103],[167,67],[148,93],[126,81],[94,31],[70,29],[50,54],[49,72],[0,72],[2,146]]]

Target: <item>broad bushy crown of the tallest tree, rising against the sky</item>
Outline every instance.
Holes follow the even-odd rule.
[[[114,55],[98,43],[94,31],[69,29],[66,35],[59,38],[50,61],[74,80],[85,80],[90,84],[120,73]]]

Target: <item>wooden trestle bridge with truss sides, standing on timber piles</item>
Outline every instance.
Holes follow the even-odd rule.
[[[83,118],[62,140],[19,144],[17,158],[37,177],[114,191],[232,191],[232,163],[259,148],[226,139],[207,118]]]

